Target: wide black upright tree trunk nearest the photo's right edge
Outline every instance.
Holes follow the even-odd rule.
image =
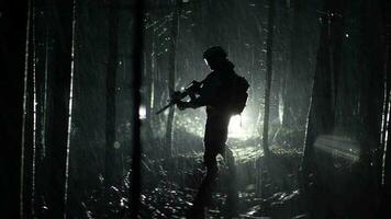
[[[364,216],[370,217],[379,207],[379,189],[381,182],[381,114],[383,106],[383,54],[381,0],[355,1],[364,11],[354,11],[359,22],[357,35],[357,67],[361,70],[359,95],[359,129],[361,174],[366,176],[360,186],[367,189],[362,198],[371,200],[361,209]],[[364,12],[364,13],[362,13]],[[365,57],[365,58],[364,58]],[[369,195],[369,193],[371,195]]]

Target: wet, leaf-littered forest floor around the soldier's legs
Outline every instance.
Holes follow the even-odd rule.
[[[346,159],[345,153],[317,151],[316,171],[308,178],[300,178],[299,175],[303,175],[299,173],[302,161],[300,149],[272,145],[271,154],[266,158],[256,142],[256,139],[231,141],[235,146],[231,149],[238,178],[237,216],[234,218],[362,218],[362,211],[372,212],[373,206],[368,207],[369,201],[361,201],[371,198],[371,195],[360,195],[366,186],[357,181],[361,177],[361,168],[354,160]],[[139,218],[185,218],[191,208],[205,175],[202,139],[182,145],[189,148],[176,151],[169,159],[161,159],[164,151],[157,150],[160,147],[155,145],[153,150],[145,150]],[[190,149],[191,146],[197,147]],[[212,205],[206,208],[204,218],[227,218],[224,217],[225,194],[232,174],[221,157],[217,161],[219,178]],[[104,178],[100,176],[98,188],[86,191],[86,196],[79,198],[81,201],[75,207],[75,218],[129,218],[129,174],[131,172],[110,188],[105,188]]]

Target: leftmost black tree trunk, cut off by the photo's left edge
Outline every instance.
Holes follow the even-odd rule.
[[[21,218],[21,162],[23,145],[22,123],[24,73],[27,68],[25,58],[29,57],[26,43],[29,41],[29,2],[3,1],[0,20],[0,96],[2,100],[0,114],[0,194],[4,201],[0,206],[2,218]],[[27,25],[26,25],[27,24]],[[15,34],[18,33],[18,34]],[[5,104],[7,103],[7,104]],[[21,147],[22,145],[22,147]]]

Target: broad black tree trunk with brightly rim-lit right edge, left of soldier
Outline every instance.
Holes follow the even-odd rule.
[[[51,120],[48,128],[48,218],[64,218],[68,161],[69,97],[72,73],[72,1],[56,1],[49,10],[53,21],[53,69],[49,77]]]

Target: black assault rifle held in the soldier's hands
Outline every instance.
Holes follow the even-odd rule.
[[[177,104],[179,101],[181,101],[182,99],[185,99],[188,95],[190,96],[190,99],[194,99],[196,93],[200,90],[202,83],[203,83],[203,81],[201,81],[201,82],[192,81],[182,91],[172,92],[172,94],[170,95],[170,99],[167,101],[168,104],[165,107],[160,108],[158,112],[156,112],[156,115],[159,115],[160,113],[163,113],[170,106],[174,106],[175,104]]]

